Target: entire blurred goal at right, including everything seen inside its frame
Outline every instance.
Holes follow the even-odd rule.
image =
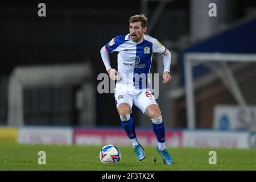
[[[256,129],[256,54],[186,53],[187,127]]]

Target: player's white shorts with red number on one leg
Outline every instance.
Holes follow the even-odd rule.
[[[144,114],[146,113],[147,106],[152,104],[158,105],[155,101],[155,97],[152,95],[149,89],[139,90],[139,92],[133,93],[115,92],[115,105],[118,107],[121,103],[127,103],[130,106],[130,110],[134,104]]]

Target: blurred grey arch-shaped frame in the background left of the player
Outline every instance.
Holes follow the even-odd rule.
[[[58,88],[79,85],[76,107],[79,107],[79,125],[95,125],[95,89],[92,67],[89,63],[17,66],[13,69],[8,85],[8,126],[24,125],[24,89]],[[40,104],[37,104],[40,105]]]

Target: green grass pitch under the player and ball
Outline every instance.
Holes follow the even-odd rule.
[[[102,146],[55,146],[0,143],[0,170],[256,170],[256,151],[224,148],[168,148],[173,165],[163,164],[155,147],[144,147],[146,159],[138,161],[133,147],[118,146],[118,164],[103,164]],[[217,164],[210,165],[209,151],[217,152]],[[38,152],[46,152],[46,165],[38,164]]]

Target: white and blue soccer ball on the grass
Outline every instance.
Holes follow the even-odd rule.
[[[121,153],[116,146],[113,146],[113,144],[101,148],[100,160],[102,163],[118,163],[120,158]]]

